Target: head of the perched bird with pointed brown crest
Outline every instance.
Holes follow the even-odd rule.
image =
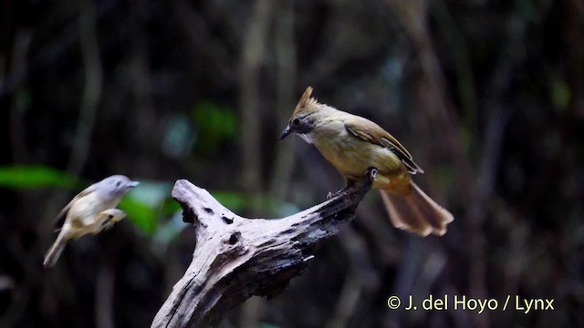
[[[308,143],[312,143],[310,139],[310,132],[312,132],[315,121],[318,119],[318,112],[323,106],[318,103],[317,99],[311,97],[312,87],[307,87],[302,97],[298,101],[292,117],[288,120],[287,127],[280,134],[280,140],[286,138],[290,134],[297,134],[304,138]]]

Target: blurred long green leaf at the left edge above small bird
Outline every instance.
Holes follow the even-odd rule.
[[[37,189],[46,187],[74,188],[78,178],[67,172],[42,165],[0,167],[0,187]]]

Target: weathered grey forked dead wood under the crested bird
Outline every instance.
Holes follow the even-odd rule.
[[[196,229],[193,261],[156,314],[152,327],[208,327],[253,295],[273,297],[314,259],[313,249],[351,220],[370,190],[360,184],[282,219],[247,219],[227,210],[206,190],[177,180],[172,198]]]

